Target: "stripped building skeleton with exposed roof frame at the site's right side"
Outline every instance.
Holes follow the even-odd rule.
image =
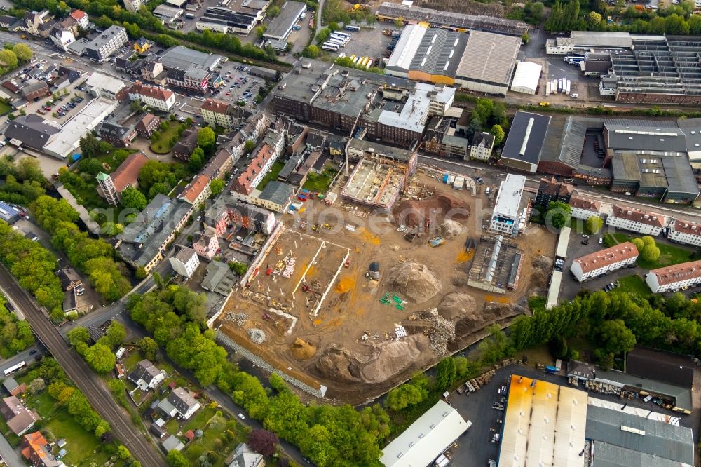
[[[503,236],[479,238],[468,273],[468,285],[505,294],[519,283],[524,255],[515,243]]]

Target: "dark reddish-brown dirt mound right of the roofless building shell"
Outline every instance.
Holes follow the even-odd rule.
[[[409,227],[423,226],[426,219],[435,225],[444,219],[467,219],[470,207],[449,196],[434,196],[421,201],[406,200],[395,206],[393,212],[395,225]]]

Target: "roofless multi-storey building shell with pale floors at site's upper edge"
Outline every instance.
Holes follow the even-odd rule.
[[[407,151],[353,138],[346,152],[348,160],[357,163],[341,196],[389,212],[414,174],[416,148]]]

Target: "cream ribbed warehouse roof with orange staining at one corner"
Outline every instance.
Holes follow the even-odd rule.
[[[584,391],[512,375],[499,466],[583,466],[586,421]]]

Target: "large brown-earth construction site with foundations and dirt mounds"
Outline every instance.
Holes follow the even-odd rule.
[[[470,286],[475,262],[491,258],[481,216],[472,215],[484,198],[441,180],[418,170],[380,213],[341,196],[333,206],[306,201],[283,217],[282,234],[215,328],[290,377],[323,387],[325,398],[358,404],[481,339],[485,327],[507,325],[547,287],[554,236],[533,226],[504,240],[507,256],[493,273],[503,292]],[[516,252],[520,280],[506,266]]]

